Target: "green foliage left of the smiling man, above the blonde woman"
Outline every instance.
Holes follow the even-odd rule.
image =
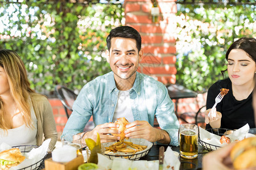
[[[57,2],[57,3],[56,3]],[[121,25],[121,5],[60,1],[0,3],[0,49],[15,50],[26,65],[31,87],[46,95],[56,84],[80,90],[110,71],[106,36]]]

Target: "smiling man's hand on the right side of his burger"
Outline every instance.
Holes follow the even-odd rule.
[[[134,121],[126,125],[125,137],[143,138],[150,142],[170,143],[170,137],[164,130],[153,128],[147,121]]]

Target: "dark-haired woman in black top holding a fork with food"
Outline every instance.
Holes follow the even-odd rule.
[[[218,80],[208,90],[206,129],[239,129],[246,124],[255,128],[252,92],[256,74],[256,39],[243,37],[235,41],[226,52],[226,60],[229,78]],[[228,89],[228,94],[213,108],[222,88]]]

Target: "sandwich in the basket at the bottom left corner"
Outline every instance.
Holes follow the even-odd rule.
[[[9,169],[23,162],[26,157],[22,155],[19,148],[11,148],[0,152],[0,169]]]

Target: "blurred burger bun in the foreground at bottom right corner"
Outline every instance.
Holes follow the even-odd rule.
[[[230,152],[230,158],[235,169],[256,168],[256,137],[236,143]]]

